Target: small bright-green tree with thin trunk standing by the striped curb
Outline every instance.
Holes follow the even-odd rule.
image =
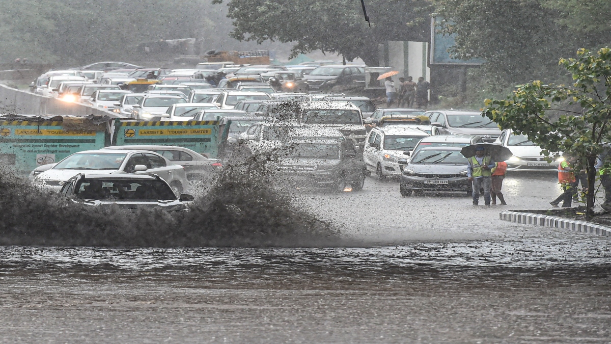
[[[577,51],[560,59],[573,77],[571,86],[532,81],[516,86],[506,100],[486,99],[483,114],[501,129],[527,135],[543,154],[568,152],[582,157],[577,169],[588,176],[587,219],[593,215],[596,157],[611,140],[611,48]]]

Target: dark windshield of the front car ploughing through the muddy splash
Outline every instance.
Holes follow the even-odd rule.
[[[84,179],[76,197],[81,200],[176,200],[169,185],[160,180]]]

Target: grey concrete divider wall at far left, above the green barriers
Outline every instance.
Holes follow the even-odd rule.
[[[20,89],[9,88],[0,84],[0,113],[48,114],[60,116],[103,116],[114,114],[79,103],[62,102],[61,100],[34,94]]]

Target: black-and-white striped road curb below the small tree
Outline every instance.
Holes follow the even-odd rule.
[[[524,223],[527,225],[543,226],[549,228],[563,228],[582,233],[596,234],[600,236],[611,236],[611,228],[598,225],[596,223],[565,219],[543,214],[533,214],[532,212],[502,211],[499,214],[500,220]]]

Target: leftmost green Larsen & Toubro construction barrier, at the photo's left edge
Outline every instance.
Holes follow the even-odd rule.
[[[0,121],[0,165],[19,174],[70,154],[104,148],[106,125],[85,121]]]

